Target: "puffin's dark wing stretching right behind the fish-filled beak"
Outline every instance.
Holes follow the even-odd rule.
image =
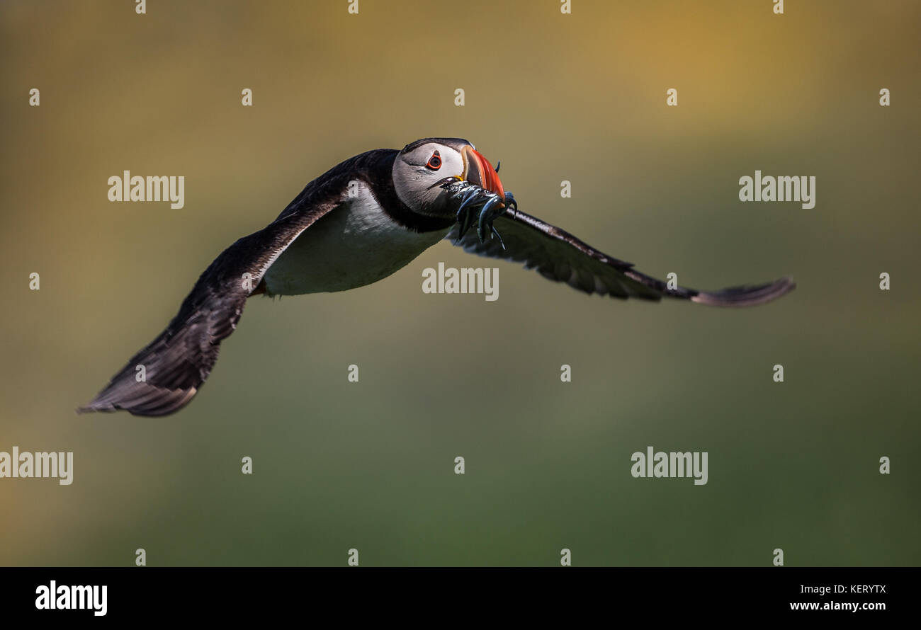
[[[508,208],[495,218],[495,230],[501,235],[480,243],[470,230],[457,243],[458,226],[445,236],[465,251],[488,258],[523,262],[526,269],[537,269],[552,281],[565,282],[587,293],[599,293],[626,299],[656,300],[662,297],[691,300],[713,306],[750,306],[764,304],[793,290],[790,278],[755,286],[731,287],[717,292],[695,291],[676,287],[633,269],[633,265],[600,252],[560,228],[544,223],[525,212]]]

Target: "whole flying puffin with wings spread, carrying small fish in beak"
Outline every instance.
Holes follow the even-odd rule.
[[[166,329],[76,411],[174,413],[201,389],[252,296],[355,289],[390,276],[443,239],[472,254],[523,263],[581,292],[619,299],[751,306],[795,287],[789,277],[716,292],[657,280],[520,212],[497,171],[461,138],[424,138],[333,166],[272,223],[221,252]]]

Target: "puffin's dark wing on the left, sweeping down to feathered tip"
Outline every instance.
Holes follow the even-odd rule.
[[[204,270],[166,330],[77,412],[124,409],[136,416],[166,416],[187,405],[211,373],[221,340],[236,329],[243,305],[265,271],[298,235],[344,203],[350,178],[394,153],[369,151],[333,166],[311,181],[273,223],[227,247]]]

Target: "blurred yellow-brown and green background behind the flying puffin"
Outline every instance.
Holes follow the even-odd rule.
[[[75,470],[0,479],[0,563],[917,565],[921,8],[786,5],[4,2],[0,450]],[[441,243],[251,300],[177,415],[76,416],[309,179],[430,135],[637,269],[799,288],[622,303]],[[816,207],[741,203],[756,168]],[[110,202],[124,169],[184,175],[185,208]],[[438,261],[499,267],[498,301],[424,294]],[[634,479],[647,445],[709,452],[709,483]]]

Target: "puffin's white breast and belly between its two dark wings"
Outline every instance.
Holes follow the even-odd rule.
[[[269,293],[345,291],[402,269],[449,232],[417,233],[384,212],[367,186],[310,226],[265,273]]]

